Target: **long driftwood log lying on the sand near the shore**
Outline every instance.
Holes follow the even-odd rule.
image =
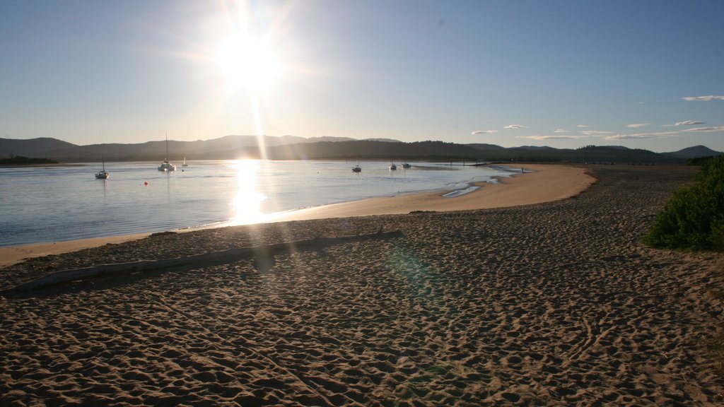
[[[257,268],[259,268],[258,264],[263,264],[263,266],[261,267],[268,269],[269,267],[271,267],[271,264],[274,263],[273,257],[274,254],[277,253],[313,250],[341,243],[358,242],[361,240],[371,239],[384,240],[390,238],[400,238],[402,236],[403,233],[400,231],[382,232],[382,229],[380,229],[379,232],[370,233],[368,235],[340,236],[336,238],[314,238],[308,240],[296,240],[292,242],[276,243],[273,245],[230,248],[223,251],[213,251],[211,253],[201,253],[195,254],[193,256],[185,256],[175,259],[142,260],[132,261],[130,263],[100,264],[98,266],[88,267],[85,269],[70,269],[61,272],[55,272],[53,274],[48,274],[38,279],[17,285],[15,288],[9,291],[14,293],[27,293],[30,291],[41,290],[43,288],[48,288],[50,286],[59,285],[66,282],[85,280],[93,277],[102,277],[110,274],[130,274],[136,272],[148,272],[160,269],[169,269],[173,267],[193,267],[195,264],[224,264],[252,256],[257,256],[257,258],[261,258],[259,259],[260,261],[255,261],[255,265]]]

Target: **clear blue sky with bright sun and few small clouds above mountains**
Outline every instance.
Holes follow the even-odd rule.
[[[724,151],[720,0],[0,0],[0,138]]]

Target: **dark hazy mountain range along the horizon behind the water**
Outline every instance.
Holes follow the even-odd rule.
[[[628,162],[652,164],[681,164],[686,159],[719,156],[704,146],[684,148],[670,153],[654,153],[623,146],[586,146],[582,148],[552,148],[521,146],[505,148],[494,144],[457,144],[443,141],[416,141],[352,138],[301,138],[253,135],[227,135],[214,140],[169,140],[166,157],[164,140],[137,144],[93,144],[77,146],[56,138],[16,140],[0,138],[0,157],[27,156],[54,159],[61,162],[91,161],[171,161],[198,159],[261,158],[260,144],[269,159],[390,159],[410,160],[468,160],[468,161],[575,161]]]

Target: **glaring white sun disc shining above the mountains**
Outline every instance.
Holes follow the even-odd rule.
[[[269,39],[244,33],[230,33],[222,40],[216,63],[226,77],[227,91],[246,90],[256,97],[269,92],[281,71]]]

